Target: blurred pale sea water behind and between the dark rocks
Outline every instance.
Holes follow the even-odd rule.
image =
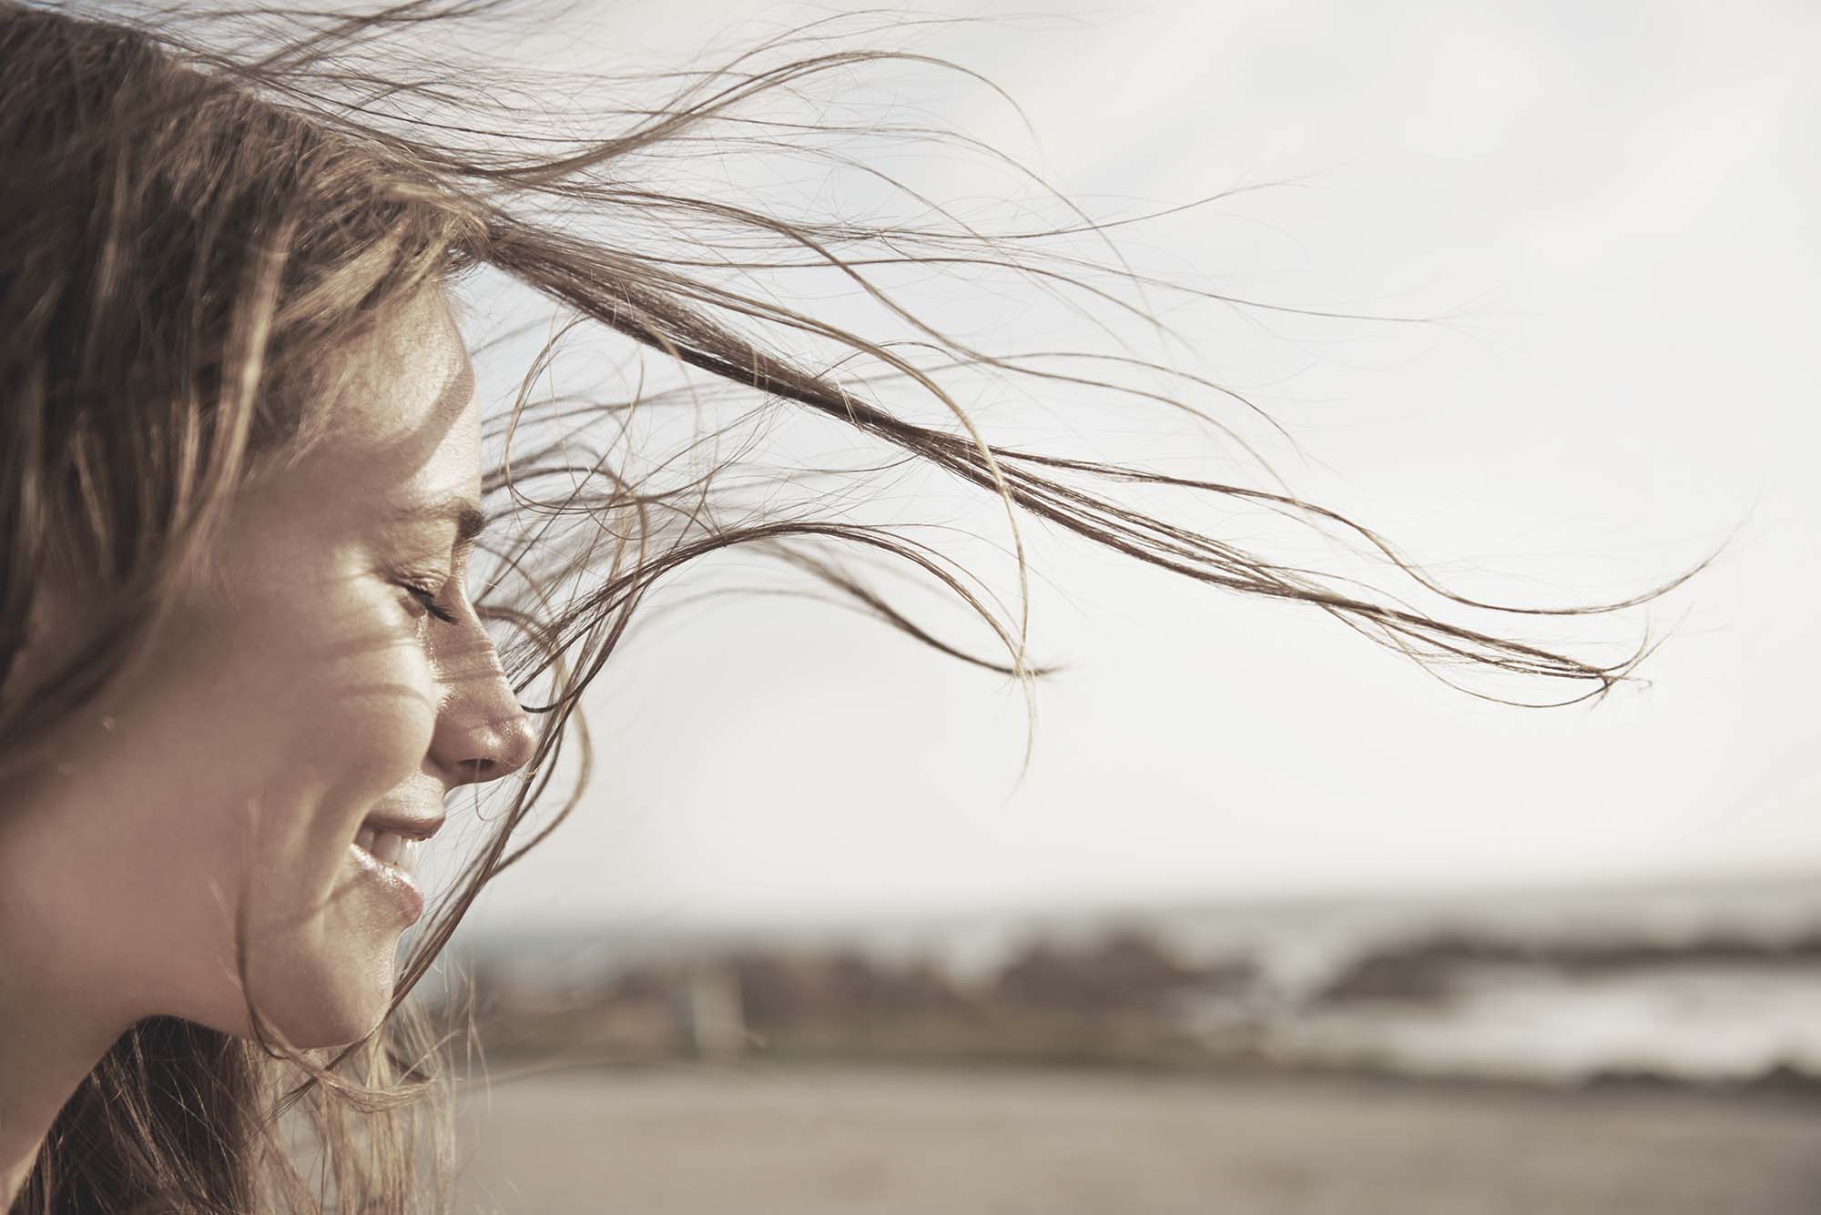
[[[1433,897],[1060,908],[794,926],[577,926],[483,942],[530,988],[730,948],[858,953],[932,964],[958,991],[987,991],[1033,944],[1069,949],[1138,935],[1189,966],[1246,960],[1253,989],[1187,1000],[1209,1044],[1291,1064],[1573,1084],[1602,1073],[1743,1080],[1779,1068],[1821,1077],[1821,875]],[[1633,949],[1613,966],[1493,964],[1459,957],[1439,991],[1324,997],[1362,959],[1424,942],[1491,942],[1561,955]],[[1748,942],[1761,957],[1717,957]],[[1723,951],[1721,951],[1723,953]],[[1737,951],[1735,951],[1737,953]]]

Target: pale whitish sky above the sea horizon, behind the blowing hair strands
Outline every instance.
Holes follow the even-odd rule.
[[[727,602],[610,664],[588,804],[481,922],[1821,873],[1821,13],[1047,7],[923,44],[1009,89],[1040,144],[980,93],[920,104],[1096,211],[1298,182],[1133,236],[1220,289],[1475,306],[1428,329],[1175,316],[1206,318],[1204,367],[1293,431],[1309,462],[1271,457],[1298,493],[1464,591],[1537,604],[1633,593],[1743,522],[1652,609],[1675,628],[1652,686],[1499,708],[1320,613],[1040,546],[1034,640],[1071,669],[1040,691],[1014,788],[1023,706],[1003,680],[834,609]],[[805,13],[583,11],[659,55],[719,15]],[[1138,437],[1136,418],[1065,422],[1089,455],[1209,451],[1160,418]]]

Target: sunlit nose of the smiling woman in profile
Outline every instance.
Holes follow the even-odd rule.
[[[443,706],[430,758],[450,788],[510,777],[532,762],[537,735],[484,629],[439,655]]]

